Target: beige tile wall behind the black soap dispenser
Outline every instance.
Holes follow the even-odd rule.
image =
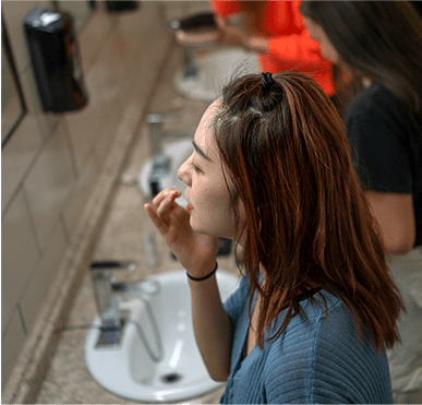
[[[157,31],[159,25],[157,2],[143,2],[122,23],[97,1],[86,24],[85,0],[60,3],[76,19],[89,102],[81,111],[59,115],[41,111],[22,25],[34,7],[50,7],[49,1],[1,3],[28,108],[1,156],[2,388],[72,243],[122,115],[133,108],[128,94],[143,51],[154,46],[140,27]]]

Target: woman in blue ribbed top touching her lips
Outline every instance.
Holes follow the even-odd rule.
[[[196,342],[222,404],[393,404],[401,308],[341,119],[303,73],[233,81],[204,114],[180,192],[145,209],[186,269]],[[244,249],[222,303],[217,237]]]

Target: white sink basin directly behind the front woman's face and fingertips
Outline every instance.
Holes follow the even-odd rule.
[[[178,169],[188,159],[188,157],[193,152],[193,134],[190,138],[181,139],[174,142],[168,142],[164,145],[164,152],[167,156],[171,158],[171,167],[169,175],[160,180],[160,190],[164,190],[168,187],[172,187],[182,192],[182,195],[177,200],[178,204],[184,209],[188,206],[188,202],[184,199],[183,191],[186,188],[186,184],[178,178]],[[153,168],[153,159],[148,159],[141,169],[138,183],[141,192],[145,199],[149,200],[152,198],[150,184],[149,184],[149,175]]]

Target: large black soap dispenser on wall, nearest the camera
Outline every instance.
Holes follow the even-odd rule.
[[[44,110],[85,107],[88,96],[72,15],[36,8],[26,15],[24,31]]]

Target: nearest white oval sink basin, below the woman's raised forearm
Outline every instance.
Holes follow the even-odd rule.
[[[118,347],[96,348],[100,331],[91,329],[85,343],[91,374],[107,391],[130,401],[147,403],[184,401],[218,389],[221,384],[209,378],[193,335],[185,271],[172,271],[150,279],[158,281],[158,293],[148,295],[131,288],[121,307],[128,309],[130,319],[142,326],[150,350],[158,355],[157,338],[145,305],[148,300],[162,342],[162,359],[158,362],[152,360],[132,321],[124,326]],[[222,300],[237,289],[238,279],[218,271],[217,283]],[[98,318],[94,325],[99,325]]]

